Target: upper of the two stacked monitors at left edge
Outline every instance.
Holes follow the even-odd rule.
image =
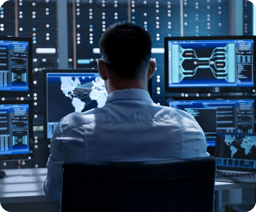
[[[0,97],[32,91],[32,38],[0,36]]]

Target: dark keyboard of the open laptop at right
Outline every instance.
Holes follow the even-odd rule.
[[[256,173],[254,172],[237,172],[216,170],[215,179],[218,181],[233,181],[233,182],[245,182],[256,183]]]

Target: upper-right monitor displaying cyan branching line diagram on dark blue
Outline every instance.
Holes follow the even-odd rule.
[[[165,90],[255,92],[255,36],[165,37]]]

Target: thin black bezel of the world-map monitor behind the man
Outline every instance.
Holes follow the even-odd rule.
[[[48,116],[47,116],[47,74],[48,73],[98,73],[98,69],[43,69],[43,85],[44,85],[44,138],[48,142],[50,142],[51,138],[47,138],[47,123],[48,123]]]

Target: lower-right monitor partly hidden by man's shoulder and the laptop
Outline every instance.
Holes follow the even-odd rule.
[[[217,132],[253,133],[255,129],[255,97],[179,98],[167,99],[167,103],[195,117],[209,146],[215,146]]]

